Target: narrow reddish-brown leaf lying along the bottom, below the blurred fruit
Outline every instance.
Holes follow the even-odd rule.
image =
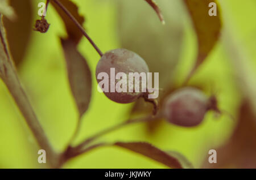
[[[179,157],[171,156],[169,153],[164,152],[149,143],[133,142],[133,143],[122,143],[117,142],[114,145],[117,145],[122,148],[129,149],[133,152],[137,152],[146,157],[152,158],[155,161],[161,162],[164,165],[167,165],[170,168],[181,169],[184,166],[181,164]],[[182,160],[183,161],[183,160]]]

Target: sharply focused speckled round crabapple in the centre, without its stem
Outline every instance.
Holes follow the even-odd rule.
[[[113,70],[113,68],[114,68],[114,72],[111,71]],[[103,81],[102,80],[103,76],[101,72],[110,78],[108,79],[104,78],[104,80],[106,80],[107,83],[104,83],[104,85],[100,86],[100,82]],[[144,72],[144,74],[147,75],[147,72],[149,72],[149,70],[148,70],[147,63],[144,61],[144,59],[142,59],[138,54],[131,52],[130,50],[114,49],[102,55],[96,67],[97,82],[101,87],[101,89],[103,90],[103,92],[105,93],[105,95],[110,100],[118,103],[129,103],[129,102],[134,102],[135,100],[137,100],[138,97],[143,96],[145,92],[134,91],[134,85],[133,87],[131,87],[133,88],[132,89],[133,91],[128,91],[128,90],[117,91],[115,87],[120,79],[114,78],[113,80],[112,78],[113,76],[116,77],[119,74],[119,72],[125,74],[127,77],[129,77],[130,72],[133,72],[133,73],[138,72],[138,74],[141,74],[141,72]],[[146,76],[146,80],[147,80],[147,76]],[[139,82],[134,82],[133,84],[139,83],[139,87],[141,88],[142,79],[137,79],[137,81]],[[128,88],[129,86],[129,83],[127,83],[128,79],[125,79],[125,82],[126,82],[126,87]],[[114,87],[114,89],[112,87]],[[107,91],[104,91],[106,90],[105,88],[107,89]],[[110,91],[110,89],[114,91]]]

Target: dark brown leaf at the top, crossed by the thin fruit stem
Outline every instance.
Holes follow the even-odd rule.
[[[84,23],[84,17],[79,15],[78,7],[69,0],[59,0],[71,14],[76,18],[76,20],[82,25]],[[56,11],[60,15],[61,19],[63,19],[63,22],[65,24],[66,31],[68,33],[68,38],[70,40],[73,40],[76,44],[79,43],[82,33],[79,28],[77,28],[76,24],[72,22],[72,20],[61,10],[59,6],[56,5],[56,3],[52,3],[52,5],[55,7]]]

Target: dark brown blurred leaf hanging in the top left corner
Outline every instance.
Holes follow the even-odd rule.
[[[3,23],[6,28],[11,55],[15,65],[19,66],[23,61],[32,32],[32,5],[31,0],[11,0],[10,5],[15,10],[16,19],[11,21],[4,17]]]

